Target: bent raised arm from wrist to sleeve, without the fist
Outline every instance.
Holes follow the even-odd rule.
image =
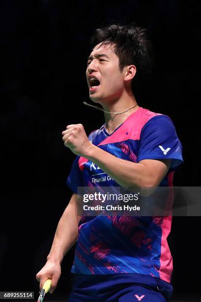
[[[94,146],[85,155],[122,187],[151,189],[159,186],[170,167],[171,159],[144,159],[138,163],[115,157]]]

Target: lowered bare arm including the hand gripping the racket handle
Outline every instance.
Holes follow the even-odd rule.
[[[76,242],[78,235],[78,223],[80,216],[77,215],[77,194],[72,197],[58,223],[52,247],[47,262],[36,274],[37,281],[42,288],[47,279],[52,280],[50,293],[55,290],[61,275],[61,262],[67,251]]]

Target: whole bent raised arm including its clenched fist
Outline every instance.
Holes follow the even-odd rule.
[[[156,188],[170,167],[171,159],[144,159],[134,163],[115,157],[89,142],[81,124],[68,125],[62,134],[66,147],[97,164],[122,187]]]

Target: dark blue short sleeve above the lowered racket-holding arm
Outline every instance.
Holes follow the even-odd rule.
[[[83,175],[82,171],[79,168],[78,160],[80,156],[76,156],[75,160],[73,161],[70,174],[67,178],[67,186],[77,194],[77,188],[83,187]]]

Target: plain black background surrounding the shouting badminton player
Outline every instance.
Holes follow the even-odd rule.
[[[65,182],[75,155],[62,131],[82,123],[89,134],[104,123],[100,111],[82,104],[92,104],[85,70],[90,35],[102,24],[135,21],[148,29],[155,65],[136,99],[174,122],[185,162],[174,186],[200,186],[200,14],[200,1],[0,1],[0,291],[37,296],[35,274],[71,196]],[[173,217],[175,300],[201,297],[200,223]],[[46,300],[67,299],[73,253]]]

